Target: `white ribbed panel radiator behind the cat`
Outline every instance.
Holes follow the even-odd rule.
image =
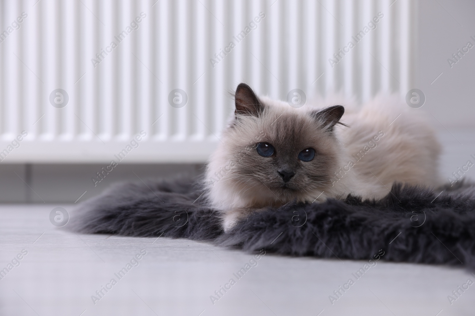
[[[239,82],[279,99],[404,96],[417,5],[393,1],[3,0],[0,160],[201,163]]]

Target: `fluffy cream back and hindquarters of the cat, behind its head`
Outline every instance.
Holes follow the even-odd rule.
[[[320,107],[345,106],[340,121],[350,127],[337,126],[335,133],[343,144],[346,160],[355,161],[352,155],[367,146],[379,131],[384,133],[379,142],[373,141],[376,147],[372,155],[365,155],[355,162],[354,172],[347,172],[345,181],[337,189],[342,190],[344,196],[354,193],[363,198],[382,198],[394,182],[427,187],[442,184],[438,174],[440,144],[426,112],[410,108],[396,95],[378,95],[361,107],[338,96],[325,99],[323,104]],[[326,197],[335,197],[335,193]]]

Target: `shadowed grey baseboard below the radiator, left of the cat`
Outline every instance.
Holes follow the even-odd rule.
[[[102,173],[100,182],[93,181],[97,172],[102,172],[107,165],[0,164],[3,180],[0,181],[0,203],[74,203],[80,198],[79,203],[98,195],[114,182],[204,172],[204,166],[198,164],[120,164],[111,172]]]

